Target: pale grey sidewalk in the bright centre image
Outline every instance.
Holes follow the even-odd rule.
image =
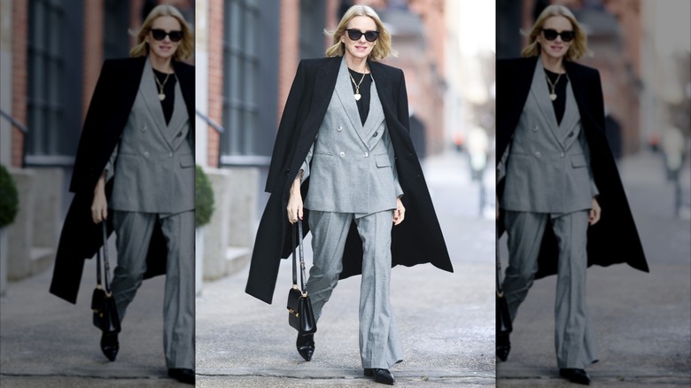
[[[477,219],[477,188],[464,163],[454,153],[425,162],[454,274],[431,265],[392,270],[392,306],[405,356],[391,369],[399,387],[495,383],[494,221]],[[309,239],[305,246],[309,266]],[[297,333],[285,309],[291,261],[281,264],[272,305],[245,294],[247,273],[245,268],[206,283],[197,301],[198,386],[383,386],[362,376],[360,276],[338,283],[318,324],[314,358],[306,362],[295,349]]]

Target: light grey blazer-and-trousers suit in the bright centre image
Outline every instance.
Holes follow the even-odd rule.
[[[346,61],[322,125],[302,166],[310,178],[314,265],[307,291],[319,318],[338,283],[346,236],[354,221],[363,244],[360,350],[364,368],[388,369],[401,360],[401,346],[389,298],[392,209],[403,194],[384,111],[372,82],[369,115],[361,124]]]

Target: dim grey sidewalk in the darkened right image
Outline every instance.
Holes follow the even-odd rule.
[[[685,168],[688,200],[691,178]],[[672,186],[655,155],[622,160],[621,175],[650,273],[625,265],[588,270],[586,298],[600,351],[600,361],[587,369],[591,386],[689,386],[691,222],[673,218]],[[505,268],[503,244],[502,250]],[[509,360],[497,364],[497,386],[575,386],[559,378],[556,368],[555,281],[555,276],[537,281],[519,309]]]

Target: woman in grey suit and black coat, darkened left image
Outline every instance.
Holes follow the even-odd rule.
[[[76,301],[83,260],[102,245],[97,224],[112,222],[118,250],[112,290],[120,320],[142,279],[166,273],[163,337],[168,375],[190,384],[194,68],[181,60],[193,54],[193,43],[182,14],[159,5],[144,20],[132,58],[105,61],[74,162],[70,190],[75,196],[50,287],[58,297]],[[104,333],[101,349],[114,361],[118,334]]]

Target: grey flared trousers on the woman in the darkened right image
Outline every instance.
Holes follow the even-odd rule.
[[[503,282],[511,320],[538,271],[538,253],[547,221],[559,243],[555,299],[555,350],[559,368],[578,368],[597,361],[590,314],[586,306],[588,212],[558,216],[506,211],[509,267]]]

